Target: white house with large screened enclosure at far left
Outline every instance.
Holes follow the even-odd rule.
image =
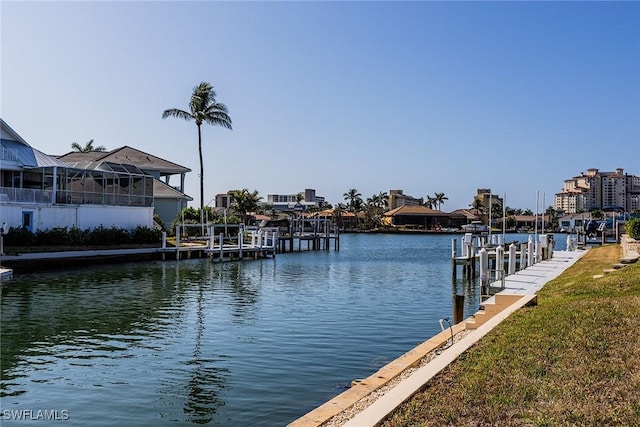
[[[0,220],[29,231],[153,225],[153,176],[132,165],[73,167],[0,119]]]

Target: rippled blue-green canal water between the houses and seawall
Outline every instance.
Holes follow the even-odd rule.
[[[1,424],[286,425],[437,333],[455,293],[477,310],[451,239],[18,275],[2,287]]]

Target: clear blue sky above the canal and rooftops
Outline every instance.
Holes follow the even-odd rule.
[[[403,189],[535,210],[595,167],[640,174],[639,2],[14,2],[0,5],[2,118],[48,154],[130,145],[236,188],[335,204]]]

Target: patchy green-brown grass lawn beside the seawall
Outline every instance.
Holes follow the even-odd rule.
[[[384,426],[640,426],[640,263],[596,247]]]

